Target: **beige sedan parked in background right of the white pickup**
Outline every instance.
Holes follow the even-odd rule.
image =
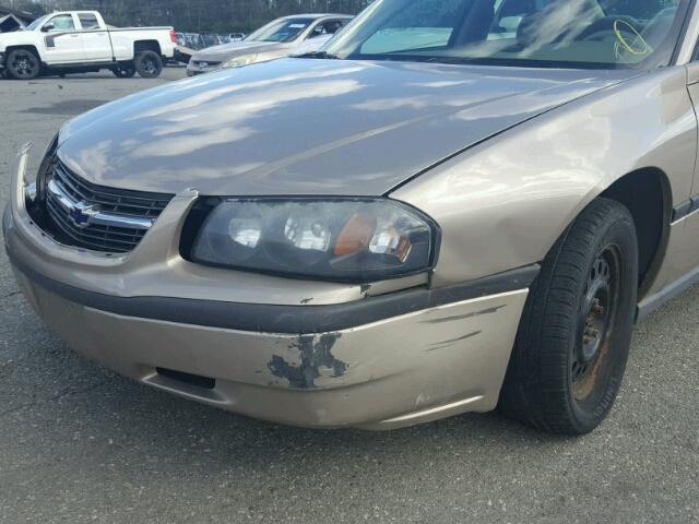
[[[333,35],[353,17],[345,14],[299,14],[270,22],[242,41],[215,46],[192,56],[187,74],[239,68],[295,53],[299,46],[317,37]]]

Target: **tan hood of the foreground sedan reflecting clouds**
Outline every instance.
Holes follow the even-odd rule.
[[[380,195],[631,74],[289,58],[97,108],[63,128],[58,155],[125,189]]]

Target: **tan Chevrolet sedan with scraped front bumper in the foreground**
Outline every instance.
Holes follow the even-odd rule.
[[[7,251],[70,346],[187,398],[584,433],[699,276],[698,36],[686,0],[376,0],[23,148]]]

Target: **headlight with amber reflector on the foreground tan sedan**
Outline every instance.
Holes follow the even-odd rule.
[[[204,221],[193,262],[337,282],[375,282],[434,266],[437,225],[380,200],[227,200]]]

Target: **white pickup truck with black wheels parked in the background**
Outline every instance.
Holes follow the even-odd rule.
[[[173,27],[114,28],[96,11],[59,11],[25,31],[0,34],[0,73],[31,80],[42,73],[111,70],[153,79],[177,47]]]

